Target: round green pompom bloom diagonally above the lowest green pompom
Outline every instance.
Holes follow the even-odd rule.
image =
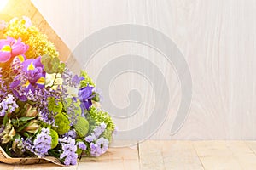
[[[58,113],[55,116],[55,126],[57,127],[54,127],[54,130],[58,134],[64,134],[68,132],[68,130],[70,129],[70,122],[65,113]]]

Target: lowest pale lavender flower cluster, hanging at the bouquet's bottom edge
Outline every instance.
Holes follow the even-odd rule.
[[[75,165],[77,163],[78,155],[76,154],[77,146],[75,140],[70,137],[59,139],[63,152],[60,159],[65,159],[65,165]]]

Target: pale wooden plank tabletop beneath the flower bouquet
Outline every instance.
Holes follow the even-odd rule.
[[[132,148],[110,148],[98,158],[79,160],[78,165],[6,165],[0,169],[256,169],[256,141],[146,141]]]

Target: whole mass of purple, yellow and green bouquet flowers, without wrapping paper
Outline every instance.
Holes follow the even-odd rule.
[[[74,165],[108,150],[113,120],[85,71],[73,75],[26,17],[0,21],[0,146],[11,157]]]

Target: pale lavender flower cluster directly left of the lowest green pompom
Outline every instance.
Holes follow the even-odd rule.
[[[49,128],[42,128],[33,142],[34,153],[39,157],[44,157],[50,149],[51,137],[49,135]]]

